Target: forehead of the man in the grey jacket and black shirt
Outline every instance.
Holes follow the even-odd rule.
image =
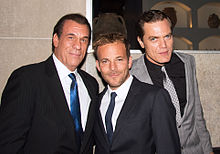
[[[166,20],[144,23],[144,34],[148,36],[159,36],[171,33],[171,24]]]

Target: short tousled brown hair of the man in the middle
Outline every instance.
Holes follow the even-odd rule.
[[[130,44],[128,40],[126,39],[126,37],[121,33],[107,33],[107,34],[100,34],[93,41],[92,47],[94,49],[94,56],[96,60],[98,60],[97,49],[99,46],[118,42],[118,41],[125,45],[126,55],[127,55],[127,58],[129,58],[130,57]]]

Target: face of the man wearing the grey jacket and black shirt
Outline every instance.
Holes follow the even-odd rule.
[[[138,42],[142,48],[145,48],[147,59],[160,66],[169,62],[173,51],[170,23],[166,19],[145,23],[143,29],[143,41],[138,37]]]

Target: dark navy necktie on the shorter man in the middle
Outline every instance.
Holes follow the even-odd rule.
[[[112,113],[114,111],[115,107],[115,97],[117,94],[115,92],[111,93],[111,101],[108,106],[108,110],[105,115],[105,125],[106,125],[106,130],[107,130],[107,137],[109,139],[109,142],[112,142],[112,136],[113,136],[113,127],[112,127]]]

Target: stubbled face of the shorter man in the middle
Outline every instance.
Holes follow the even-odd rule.
[[[103,79],[115,90],[129,77],[132,59],[127,57],[125,45],[121,42],[99,46],[96,67]]]

